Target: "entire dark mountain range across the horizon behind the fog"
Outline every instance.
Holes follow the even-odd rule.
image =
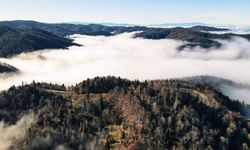
[[[65,39],[66,36],[72,34],[83,34],[90,36],[113,36],[124,32],[135,32],[134,38],[145,39],[173,39],[187,42],[178,49],[185,50],[194,47],[202,47],[205,49],[219,48],[222,46],[217,40],[229,40],[238,36],[250,40],[250,34],[215,34],[208,31],[228,31],[226,28],[215,28],[203,25],[197,25],[189,28],[153,28],[145,26],[104,26],[99,24],[68,24],[58,23],[49,24],[36,21],[2,21],[0,26],[1,32],[11,30],[11,35],[0,37],[0,57],[8,57],[21,52],[34,51],[44,48],[67,48],[74,45],[71,40]],[[8,29],[7,26],[11,29]],[[205,31],[205,32],[204,32]],[[22,33],[22,34],[20,34]],[[21,42],[22,41],[22,42]],[[23,42],[24,41],[24,42]]]

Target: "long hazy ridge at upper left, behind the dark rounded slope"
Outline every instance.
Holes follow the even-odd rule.
[[[49,24],[36,21],[23,21],[23,20],[2,21],[0,22],[0,25],[5,25],[17,29],[29,29],[29,28],[42,29],[60,37],[65,37],[67,35],[72,35],[72,34],[111,36],[123,32],[133,32],[133,31],[141,31],[147,29],[147,27],[142,27],[142,26],[125,27],[125,26],[104,26],[100,24],[85,25],[85,24],[70,24],[70,23]]]

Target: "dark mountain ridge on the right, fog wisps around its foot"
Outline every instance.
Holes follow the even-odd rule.
[[[203,31],[225,31],[227,29],[195,26],[191,28],[152,28],[143,32],[137,33],[135,37],[141,37],[145,39],[174,39],[188,42],[185,45],[179,47],[179,50],[185,48],[194,48],[200,46],[202,48],[219,48],[222,44],[216,40],[229,40],[232,37],[238,36],[250,40],[250,34],[213,34]]]

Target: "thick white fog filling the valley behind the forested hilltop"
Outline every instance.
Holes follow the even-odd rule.
[[[133,33],[116,36],[72,35],[83,46],[69,50],[43,50],[1,58],[21,73],[1,75],[0,90],[22,81],[74,85],[96,76],[128,79],[167,79],[212,75],[250,84],[250,43],[242,38],[221,41],[220,49],[178,51],[185,42],[132,38]]]

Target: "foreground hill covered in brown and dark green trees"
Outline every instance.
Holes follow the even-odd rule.
[[[33,82],[0,94],[6,126],[35,116],[8,149],[247,150],[248,110],[210,86],[181,80],[109,76],[71,87]]]

